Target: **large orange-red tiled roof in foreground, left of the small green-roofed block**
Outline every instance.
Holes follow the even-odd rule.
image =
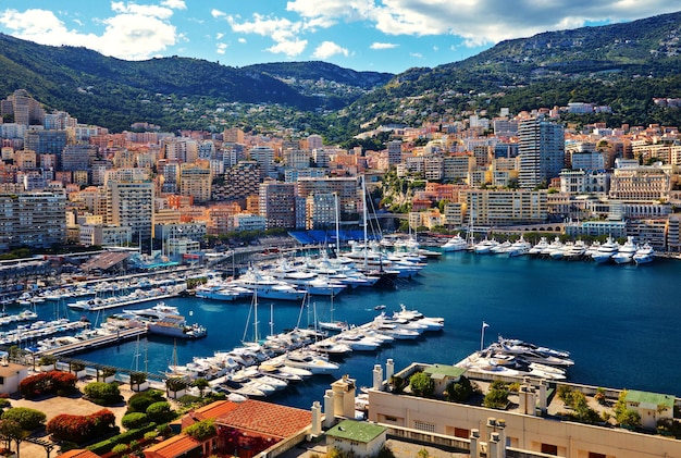
[[[216,423],[273,437],[288,437],[312,423],[312,412],[248,399],[221,416]]]

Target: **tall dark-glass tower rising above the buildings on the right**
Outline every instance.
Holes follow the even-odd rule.
[[[523,120],[518,127],[519,185],[532,189],[560,175],[565,164],[562,126],[542,116]]]

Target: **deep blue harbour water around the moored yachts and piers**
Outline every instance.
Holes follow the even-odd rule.
[[[352,354],[336,373],[288,388],[278,400],[309,408],[313,400],[322,399],[331,381],[345,373],[359,385],[369,385],[373,364],[385,364],[387,358],[395,360],[396,368],[412,361],[455,363],[479,349],[483,321],[490,324],[485,344],[500,334],[569,350],[575,361],[571,381],[681,396],[681,364],[676,354],[681,329],[680,278],[681,262],[663,259],[637,267],[445,253],[395,289],[355,289],[334,299],[334,319],[360,324],[376,314],[376,305],[392,311],[405,304],[426,315],[444,317],[444,332],[395,343],[377,352]],[[249,301],[177,298],[166,302],[177,306],[188,321],[208,329],[203,339],[177,341],[181,364],[193,356],[237,346],[245,330],[246,338],[252,338],[252,319],[246,326]],[[314,310],[320,320],[329,320],[330,300],[317,298],[313,302],[301,312],[300,304],[261,301],[260,333],[270,332],[271,304],[275,332],[295,326],[299,318],[307,326]],[[55,313],[50,307],[39,306],[38,311],[50,318]],[[72,319],[82,314],[69,313]],[[92,322],[101,320],[97,313],[87,315]],[[139,345],[131,342],[77,357],[159,373],[173,361],[173,341],[152,336]]]

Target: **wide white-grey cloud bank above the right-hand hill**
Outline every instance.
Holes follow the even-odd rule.
[[[361,21],[386,35],[454,35],[476,47],[587,22],[621,22],[674,12],[666,0],[289,0],[286,10],[307,21]]]

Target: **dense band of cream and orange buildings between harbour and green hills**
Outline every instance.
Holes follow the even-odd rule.
[[[560,122],[608,110],[589,102],[443,115],[358,136],[383,135],[380,150],[285,128],[166,133],[140,122],[114,134],[48,113],[24,90],[0,107],[4,251],[127,245],[182,257],[234,232],[330,228],[336,210],[357,222],[360,177],[382,197],[373,210],[408,215],[412,230],[543,228],[680,251],[678,127]]]

